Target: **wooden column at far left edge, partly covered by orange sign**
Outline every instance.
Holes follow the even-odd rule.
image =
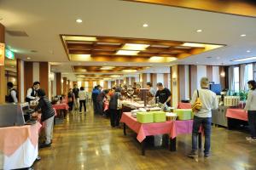
[[[5,27],[0,23],[0,42],[5,42]],[[6,91],[6,81],[5,81],[5,71],[4,65],[0,65],[0,104],[5,103],[5,91]]]

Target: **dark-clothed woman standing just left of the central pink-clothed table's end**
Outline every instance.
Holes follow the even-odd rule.
[[[120,98],[120,89],[112,88],[113,95],[110,96],[109,113],[111,127],[119,126],[118,99]]]

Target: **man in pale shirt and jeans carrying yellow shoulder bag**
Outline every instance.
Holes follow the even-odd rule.
[[[205,134],[205,157],[210,154],[210,144],[211,144],[211,124],[212,124],[212,110],[218,109],[218,100],[216,94],[214,94],[209,89],[209,80],[207,77],[201,78],[201,89],[195,90],[191,105],[195,104],[197,98],[201,99],[201,109],[200,111],[195,111],[193,131],[192,131],[192,151],[189,157],[198,156],[197,154],[197,136],[200,127],[202,126]]]

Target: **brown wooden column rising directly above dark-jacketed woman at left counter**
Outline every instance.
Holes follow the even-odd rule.
[[[39,63],[39,82],[40,88],[43,88],[45,94],[49,94],[49,64],[48,62]]]

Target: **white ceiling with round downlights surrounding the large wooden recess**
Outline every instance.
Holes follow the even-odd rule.
[[[83,20],[82,24],[75,22],[78,18]],[[29,36],[11,37],[6,34],[7,44],[17,50],[16,56],[25,60],[31,57],[34,61],[61,62],[60,70],[58,67],[55,69],[63,72],[72,71],[70,65],[79,65],[79,62],[68,62],[60,34],[137,37],[227,45],[172,64],[235,65],[238,63],[231,62],[231,59],[256,56],[256,18],[188,8],[118,0],[1,0],[0,22],[7,30],[26,31]],[[147,28],[143,27],[144,23],[148,24]],[[203,31],[197,33],[197,29]],[[240,37],[241,34],[246,34],[247,37]],[[31,50],[37,50],[38,53],[31,53]],[[247,53],[247,50],[251,53]],[[104,63],[87,62],[80,65]],[[109,61],[105,65],[129,63]],[[163,64],[154,64],[161,65]],[[165,66],[169,65],[170,63],[166,63]]]

